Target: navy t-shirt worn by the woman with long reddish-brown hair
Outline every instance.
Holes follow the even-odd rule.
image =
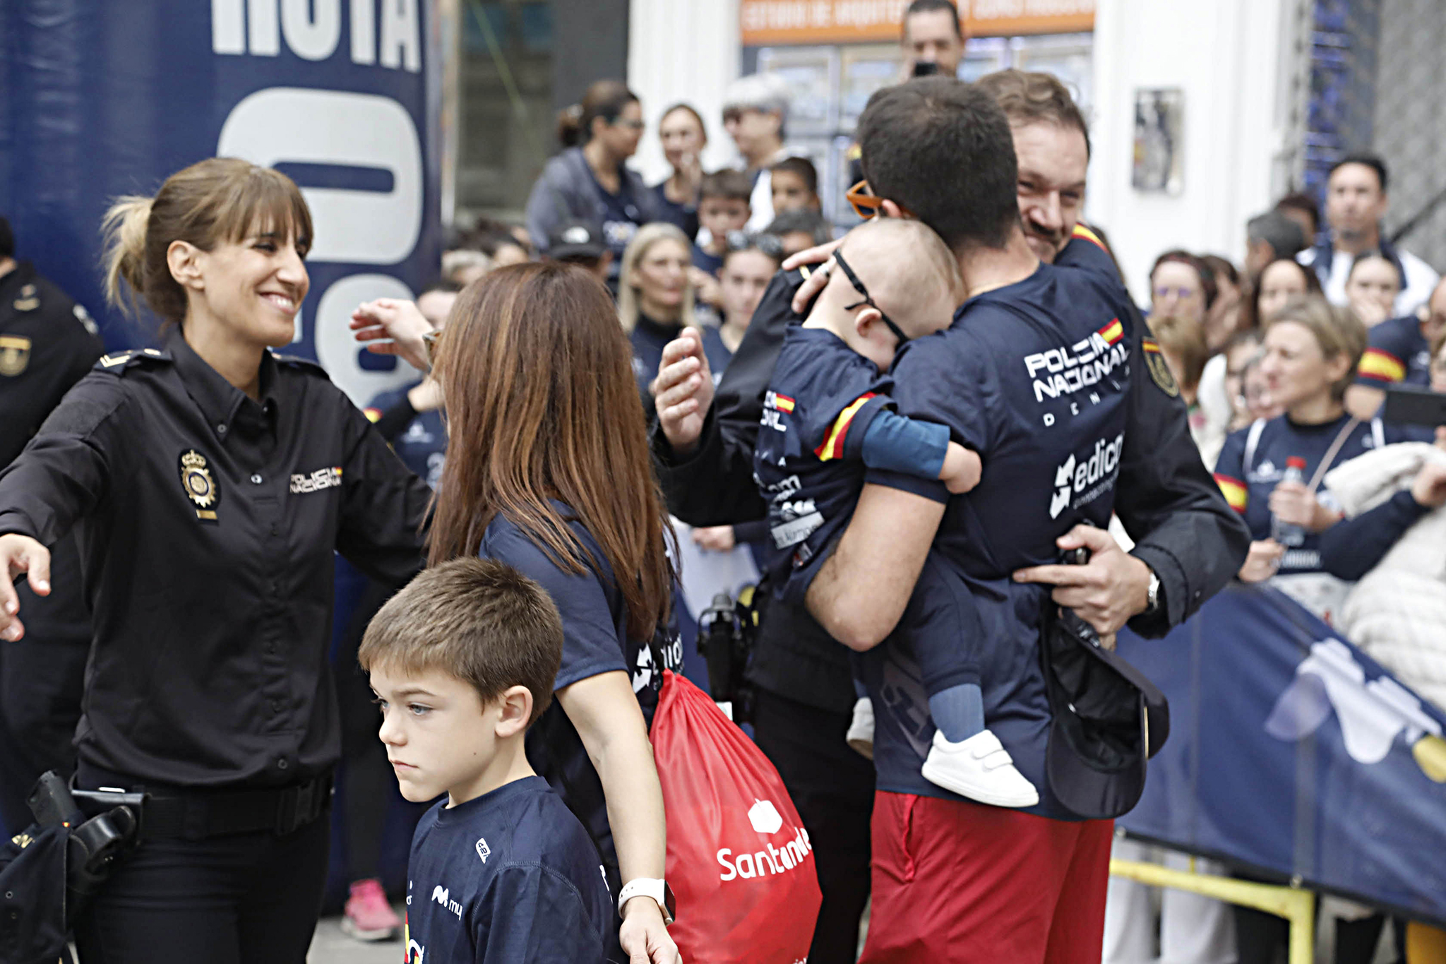
[[[680,671],[683,666],[677,626],[662,630],[654,645],[632,639],[628,634],[628,607],[602,546],[571,509],[558,502],[552,504],[568,520],[596,569],[584,567],[577,574],[562,569],[526,532],[500,513],[487,525],[479,555],[506,562],[536,581],[557,604],[562,616],[562,665],[554,691],[604,672],[626,672],[643,718],[651,724],[662,687],[662,669]],[[661,668],[654,650],[662,660]],[[560,702],[554,701],[528,730],[526,749],[532,769],[561,795],[597,844],[607,864],[607,883],[616,892],[622,883],[617,880],[617,851],[607,824],[603,785],[577,727]]]

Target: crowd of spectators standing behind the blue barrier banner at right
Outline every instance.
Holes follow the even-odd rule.
[[[1446,428],[1391,423],[1382,402],[1392,386],[1446,389],[1446,282],[1382,236],[1387,171],[1372,155],[1338,162],[1319,233],[1303,194],[1252,217],[1239,267],[1164,251],[1150,273],[1147,321],[1190,406],[1202,458],[1251,528],[1238,578],[1280,588],[1442,705]],[[1287,475],[1287,462],[1299,475]],[[1128,886],[1112,900],[1106,960],[1132,960],[1138,941],[1119,937],[1129,929],[1121,918],[1150,909]],[[1226,915],[1200,899],[1183,911],[1184,922],[1178,895],[1161,903],[1170,960],[1244,964],[1284,948],[1278,918]],[[1335,960],[1374,960],[1384,918],[1345,902],[1327,913],[1339,915]],[[1406,929],[1398,922],[1398,942]]]

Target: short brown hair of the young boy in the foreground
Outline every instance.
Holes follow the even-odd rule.
[[[547,591],[496,559],[432,567],[372,617],[362,669],[437,669],[470,682],[483,705],[509,687],[532,692],[532,726],[552,701],[562,662],[562,617]]]

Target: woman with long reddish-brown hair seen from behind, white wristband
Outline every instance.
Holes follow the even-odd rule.
[[[395,319],[398,306],[370,315],[363,306],[356,327]],[[362,337],[390,335],[393,350],[418,354],[402,327]],[[681,662],[675,637],[661,632],[672,532],[628,335],[591,275],[516,264],[463,291],[432,373],[450,447],[429,562],[496,558],[557,603],[557,701],[528,733],[528,759],[593,835],[609,887],[623,890],[622,948],[635,961],[674,964],[662,791],[648,741],[662,666]]]

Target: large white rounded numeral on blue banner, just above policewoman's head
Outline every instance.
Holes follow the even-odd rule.
[[[392,189],[302,188],[317,237],[311,259],[395,264],[422,233],[422,143],[389,97],[272,87],[246,97],[221,126],[215,153],[278,163],[351,165],[392,173]]]

